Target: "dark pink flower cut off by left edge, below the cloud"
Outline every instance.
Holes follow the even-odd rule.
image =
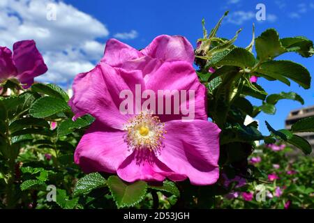
[[[23,40],[13,45],[13,54],[7,47],[0,47],[0,82],[18,79],[24,89],[33,84],[34,77],[43,75],[47,66],[33,40]]]

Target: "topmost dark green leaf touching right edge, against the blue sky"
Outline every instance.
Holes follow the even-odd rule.
[[[304,57],[313,55],[313,42],[304,36],[282,38],[281,44],[285,47],[287,52],[297,52]]]

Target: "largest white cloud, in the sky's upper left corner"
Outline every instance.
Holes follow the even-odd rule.
[[[47,20],[49,3],[57,20]],[[66,83],[103,55],[105,44],[96,39],[109,35],[106,26],[62,1],[1,0],[0,10],[0,45],[11,48],[17,40],[33,39],[43,54],[49,70],[38,81]]]

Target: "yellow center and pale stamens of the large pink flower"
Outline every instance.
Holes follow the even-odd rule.
[[[148,148],[150,151],[158,149],[166,131],[165,123],[161,123],[158,116],[141,112],[130,118],[124,125],[126,130],[126,143],[131,149]]]

